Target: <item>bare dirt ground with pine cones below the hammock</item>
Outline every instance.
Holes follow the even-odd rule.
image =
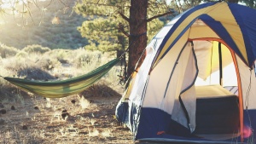
[[[92,87],[84,96],[1,101],[0,143],[134,143],[131,132],[114,118],[121,95],[105,87]]]

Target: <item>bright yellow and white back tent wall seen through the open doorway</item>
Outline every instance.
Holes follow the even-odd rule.
[[[218,42],[195,41],[195,55],[199,67],[199,78],[195,85],[219,84]],[[236,69],[233,58],[224,44],[221,45],[223,86],[237,86]]]

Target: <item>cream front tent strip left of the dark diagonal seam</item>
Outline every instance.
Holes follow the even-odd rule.
[[[181,49],[183,49],[185,42],[187,42],[188,35],[189,32],[185,32],[183,37],[181,37],[177,41],[173,48],[166,54],[166,56],[162,60],[160,60],[160,62],[154,67],[153,71],[150,73],[150,78],[148,79],[148,86],[145,93],[145,99],[143,101],[143,107],[155,107],[160,109],[164,107],[163,110],[165,110],[169,114],[172,114],[174,99],[169,99],[168,97],[166,97],[168,100],[163,100],[163,98],[165,96],[166,86],[168,85],[168,80],[172,73],[172,69],[175,66],[177,56],[180,54]],[[172,91],[172,93],[173,92],[176,93],[176,90]],[[166,104],[164,106],[162,106],[163,101],[166,101]]]

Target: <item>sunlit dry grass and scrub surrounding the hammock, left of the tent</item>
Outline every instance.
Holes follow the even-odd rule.
[[[75,53],[81,52],[79,50]],[[3,58],[0,60],[1,75],[18,77],[21,69],[38,68],[41,72],[34,71],[38,79],[44,80],[45,73],[55,79],[65,79],[83,74],[93,69],[89,66],[100,66],[109,60],[94,60],[92,57],[90,65],[85,62],[79,66],[74,63],[78,61],[73,56],[75,54],[65,53],[52,53],[53,56],[47,58],[45,54],[49,55],[49,52]],[[52,67],[47,68],[50,65]],[[83,93],[61,99],[44,99],[26,93],[0,78],[0,105],[3,105],[0,110],[6,111],[0,113],[0,143],[133,143],[131,132],[113,118],[123,89],[118,85],[118,78],[110,76],[116,74],[118,67],[111,71]],[[31,75],[23,71],[20,78],[36,79]]]

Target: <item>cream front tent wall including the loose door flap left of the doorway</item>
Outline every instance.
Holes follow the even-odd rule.
[[[186,37],[181,37],[179,42],[166,54],[163,60],[160,60],[160,63],[151,72],[143,107],[157,107],[172,114],[173,120],[183,124],[184,127],[188,127],[187,118],[180,106],[178,97],[184,89],[192,85],[192,88],[181,95],[183,103],[189,112],[192,132],[195,130],[195,87],[193,83],[196,67],[192,44],[187,43],[183,49],[184,38]],[[173,68],[174,71],[172,72]],[[153,81],[158,83],[152,83]],[[173,109],[173,107],[176,108]]]

